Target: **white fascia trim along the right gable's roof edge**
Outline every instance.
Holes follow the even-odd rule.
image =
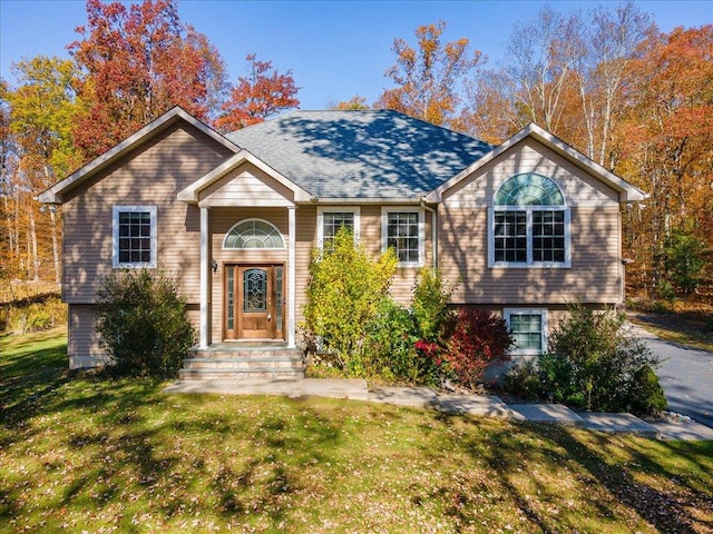
[[[457,185],[459,181],[465,179],[466,177],[472,175],[476,170],[481,168],[489,161],[492,161],[495,158],[500,156],[506,150],[510,149],[518,142],[522,141],[527,137],[531,137],[536,139],[547,148],[554,150],[560,156],[569,159],[572,162],[577,165],[580,168],[584,168],[586,171],[592,174],[595,178],[599,179],[602,182],[609,186],[612,189],[619,194],[619,202],[627,201],[641,201],[648,198],[648,195],[637,187],[632,186],[629,182],[619,178],[614,172],[608,171],[604,167],[602,167],[596,161],[587,158],[585,155],[570,147],[561,139],[553,136],[548,131],[544,130],[534,122],[530,122],[520,131],[518,131],[515,136],[510,137],[501,145],[497,146],[490,152],[486,154],[482,158],[480,158],[475,164],[470,165],[466,169],[461,170],[458,175],[449,179],[448,181],[440,185],[438,188],[433,189],[426,196],[426,200],[429,202],[440,202],[442,195],[445,191]]]

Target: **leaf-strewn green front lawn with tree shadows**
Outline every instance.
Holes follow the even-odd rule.
[[[70,376],[0,338],[3,532],[712,532],[713,443]]]

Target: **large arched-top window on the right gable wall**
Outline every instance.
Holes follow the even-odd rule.
[[[569,267],[569,209],[559,186],[526,172],[506,180],[488,209],[490,267]]]

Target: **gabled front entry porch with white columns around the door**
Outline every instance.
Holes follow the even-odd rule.
[[[287,348],[295,348],[295,210],[297,204],[310,202],[312,196],[250,152],[240,150],[179,191],[177,198],[199,210],[199,348],[234,338],[279,338],[286,342]],[[231,217],[232,227],[226,227],[226,217]],[[246,238],[247,234],[251,236]],[[284,296],[273,299],[270,305],[264,303],[272,310],[260,308],[263,303],[258,298],[251,296],[243,300],[250,309],[233,308],[231,328],[226,324],[226,306],[221,304],[224,291],[221,271],[247,263],[255,263],[257,268],[262,264],[267,269],[281,264]],[[245,271],[233,275],[234,280],[238,280]],[[253,271],[248,275],[255,275],[252,281],[262,284],[263,274]],[[264,275],[266,284],[270,284],[267,279],[276,284],[276,273]],[[244,293],[244,287],[234,286],[234,296],[237,297],[241,290]],[[265,290],[270,295],[270,289]],[[254,304],[258,307],[252,308]],[[279,305],[281,310],[276,309]],[[282,325],[279,326],[279,322]]]

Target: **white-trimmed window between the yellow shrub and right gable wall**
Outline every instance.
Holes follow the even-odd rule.
[[[382,208],[382,250],[393,248],[401,266],[423,265],[423,210]]]

